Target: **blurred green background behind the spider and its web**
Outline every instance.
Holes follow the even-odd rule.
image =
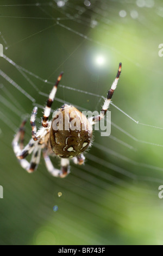
[[[163,136],[157,128],[163,127],[162,1],[0,0],[0,5],[4,54],[23,68],[0,57],[1,245],[162,245]],[[48,82],[64,71],[61,85],[77,89],[59,87],[53,109],[71,102],[80,111],[99,111],[103,99],[78,90],[106,96],[119,62],[122,74],[112,102],[139,124],[111,106],[111,136],[95,131],[84,166],[72,163],[66,179],[53,178],[42,158],[34,174],[23,170],[11,142],[33,105],[45,106]],[[29,120],[26,126],[28,143]],[[52,161],[59,168],[59,161]]]

